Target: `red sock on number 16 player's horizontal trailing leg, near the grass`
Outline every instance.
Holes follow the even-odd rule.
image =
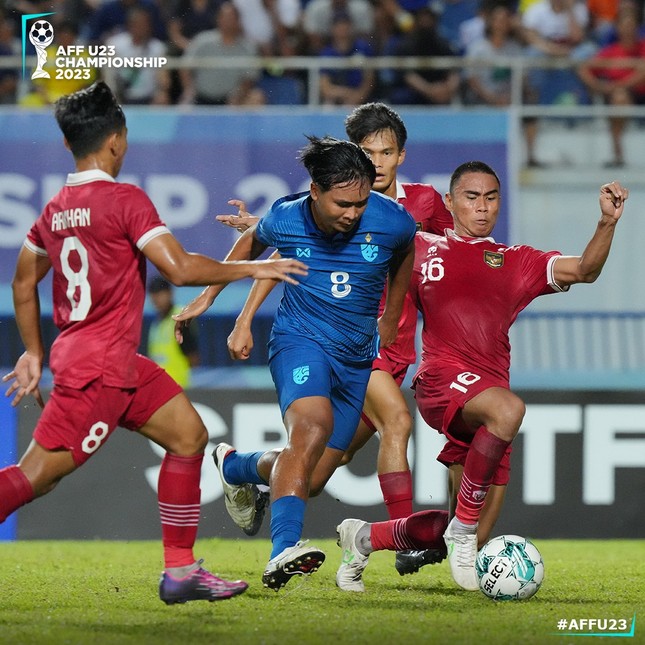
[[[443,534],[447,526],[447,511],[419,511],[398,520],[374,522],[370,540],[374,551],[443,549]]]

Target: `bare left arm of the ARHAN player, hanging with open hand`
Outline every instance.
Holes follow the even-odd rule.
[[[18,405],[27,394],[32,394],[40,407],[44,406],[38,388],[45,355],[40,329],[38,283],[47,275],[50,268],[51,262],[47,256],[38,255],[22,247],[16,264],[12,289],[16,324],[25,352],[16,362],[14,369],[2,378],[5,383],[13,381],[6,392],[6,396],[12,396],[15,393],[11,402],[13,406]]]

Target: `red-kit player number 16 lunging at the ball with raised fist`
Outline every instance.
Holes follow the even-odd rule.
[[[462,164],[446,195],[454,233],[421,234],[416,240],[411,292],[424,330],[414,387],[423,418],[448,439],[439,460],[449,466],[457,491],[454,517],[448,524],[444,511],[421,511],[376,524],[344,520],[337,529],[340,569],[355,577],[372,551],[438,548],[443,541],[455,582],[479,588],[478,539],[488,538],[501,509],[508,454],[525,410],[509,386],[508,330],[534,298],[596,280],[628,196],[618,182],[603,185],[593,237],[581,256],[562,256],[508,247],[489,237],[499,213],[499,188],[485,163]]]

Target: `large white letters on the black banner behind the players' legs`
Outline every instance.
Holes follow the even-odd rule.
[[[219,441],[229,435],[229,428],[212,408],[194,403],[212,440],[206,448],[210,455]],[[557,501],[557,436],[581,433],[583,406],[528,405],[522,434],[524,441],[523,502],[553,505]],[[616,434],[645,433],[645,406],[592,405],[584,417],[583,502],[587,505],[615,502],[615,471],[618,468],[645,468],[645,439],[616,438]],[[240,452],[282,448],[287,434],[280,408],[275,403],[239,403],[233,405],[231,443]],[[408,460],[414,473],[415,503],[445,507],[448,503],[447,471],[436,461],[445,438],[415,416],[415,441],[410,441]],[[153,451],[163,457],[164,450],[151,442]],[[159,466],[146,470],[151,488],[157,489]],[[511,484],[512,485],[512,484]],[[202,503],[222,495],[222,488],[211,459],[202,469]],[[349,506],[373,506],[382,502],[376,474],[356,475],[349,468],[339,468],[329,480],[326,492]]]

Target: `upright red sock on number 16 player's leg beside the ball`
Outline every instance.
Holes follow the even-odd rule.
[[[464,524],[479,521],[486,494],[509,443],[484,426],[475,433],[464,463],[455,509],[457,519]]]

